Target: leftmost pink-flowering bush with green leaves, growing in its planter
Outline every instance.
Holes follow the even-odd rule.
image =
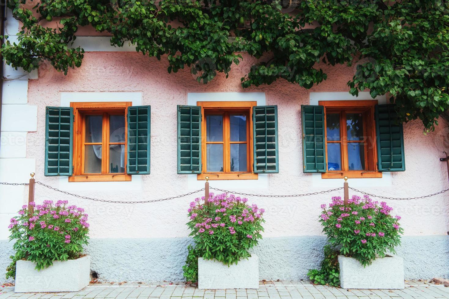
[[[17,260],[31,260],[35,269],[44,269],[54,260],[73,260],[81,256],[83,245],[88,244],[88,215],[83,208],[67,206],[66,200],[44,200],[43,204],[30,203],[34,212],[26,205],[11,218],[8,228],[9,241],[14,240],[11,256],[13,262],[8,266],[6,278],[15,278]]]

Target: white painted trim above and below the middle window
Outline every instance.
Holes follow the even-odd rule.
[[[197,102],[257,102],[257,106],[265,106],[267,103],[264,92],[188,92],[187,105],[197,106]],[[220,189],[245,190],[268,189],[268,174],[259,173],[254,180],[213,180],[211,185]],[[187,186],[190,190],[204,188],[204,181],[198,181],[197,174],[187,174]]]

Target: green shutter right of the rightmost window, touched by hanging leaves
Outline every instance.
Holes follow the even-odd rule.
[[[376,105],[379,171],[405,171],[404,133],[392,104]]]

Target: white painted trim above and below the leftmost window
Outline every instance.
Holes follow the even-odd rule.
[[[132,102],[142,105],[141,92],[60,92],[61,107],[70,107],[71,102]],[[68,177],[59,178],[62,190],[76,191],[138,191],[143,190],[141,175],[133,175],[128,182],[69,182]]]

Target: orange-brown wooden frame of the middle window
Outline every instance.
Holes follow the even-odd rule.
[[[210,180],[254,180],[258,178],[258,174],[254,173],[253,160],[253,121],[252,121],[252,108],[257,106],[257,102],[252,101],[218,101],[218,102],[197,102],[198,106],[201,106],[201,163],[202,173],[197,175],[198,180],[204,180],[209,177]],[[231,142],[229,140],[229,118],[226,119],[226,115],[229,117],[229,113],[245,113],[247,114],[247,172],[207,172],[207,144],[213,142],[207,142],[206,134],[206,115],[211,113],[223,113],[223,167],[224,170],[229,166],[227,164],[227,157],[230,155],[230,144],[239,143]],[[221,142],[218,142],[221,143]]]

